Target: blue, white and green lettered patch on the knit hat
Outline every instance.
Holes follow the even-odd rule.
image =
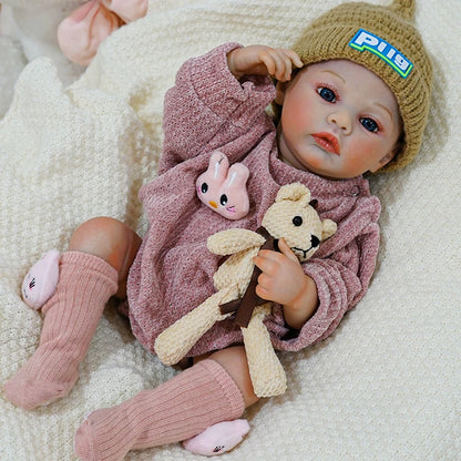
[[[349,47],[356,50],[368,50],[377,57],[386,61],[399,75],[407,79],[413,64],[408,60],[397,48],[392,47],[389,42],[375,35],[365,29],[354,35],[354,39],[349,42]]]

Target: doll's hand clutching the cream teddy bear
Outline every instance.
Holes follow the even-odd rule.
[[[281,253],[263,249],[254,258],[263,274],[258,277],[256,294],[284,306],[285,321],[293,328],[301,328],[317,308],[317,288],[283,238],[278,243]]]

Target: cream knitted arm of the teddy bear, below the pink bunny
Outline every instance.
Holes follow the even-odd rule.
[[[233,228],[208,237],[207,247],[215,255],[233,255],[244,249],[262,246],[265,238],[253,230]]]

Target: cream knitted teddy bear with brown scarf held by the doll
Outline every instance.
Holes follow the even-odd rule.
[[[177,363],[216,321],[237,309],[235,320],[242,328],[254,391],[258,397],[270,397],[285,392],[286,376],[264,325],[272,303],[258,298],[252,288],[259,270],[253,258],[262,247],[270,248],[270,243],[277,249],[277,240],[284,238],[303,263],[321,240],[336,233],[337,226],[331,219],[320,219],[310,203],[309,189],[299,183],[280,187],[262,224],[258,232],[230,228],[208,237],[212,253],[229,256],[214,275],[217,291],[162,331],[155,352],[165,365]]]

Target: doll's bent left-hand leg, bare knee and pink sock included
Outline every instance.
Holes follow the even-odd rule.
[[[140,238],[124,224],[95,218],[82,224],[60,264],[57,290],[42,307],[39,347],[4,385],[6,397],[31,410],[70,392],[109,298],[123,296]]]

